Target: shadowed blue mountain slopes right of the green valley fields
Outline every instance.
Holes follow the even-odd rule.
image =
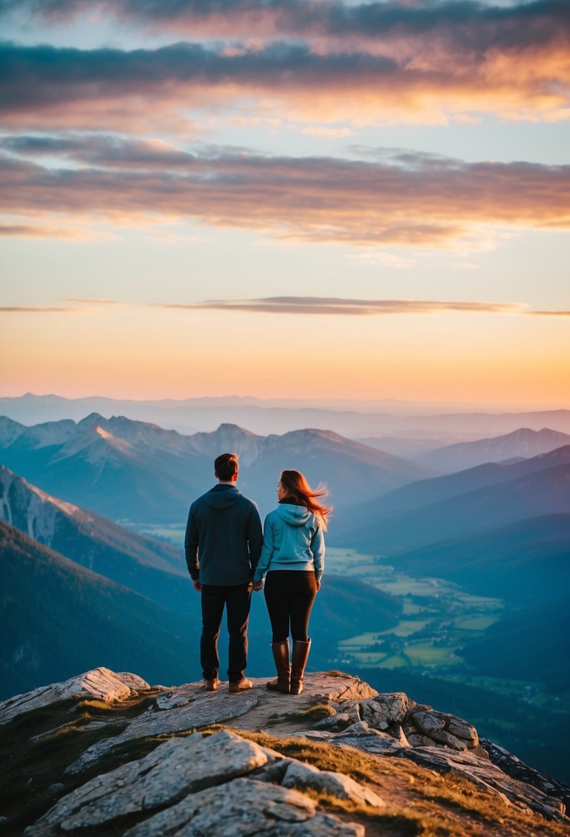
[[[570,603],[562,598],[570,584],[569,510],[564,445],[405,485],[354,506],[330,540],[380,555],[412,578],[445,578],[482,600],[502,599],[496,623],[457,653],[479,675],[540,682],[563,694],[570,684]]]

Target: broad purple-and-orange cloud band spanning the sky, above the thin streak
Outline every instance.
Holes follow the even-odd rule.
[[[481,246],[493,227],[570,226],[570,166],[394,149],[366,160],[189,153],[105,136],[15,136],[2,148],[0,210],[13,218],[191,218],[277,238],[464,249]],[[61,153],[62,167],[41,165],[45,153]]]

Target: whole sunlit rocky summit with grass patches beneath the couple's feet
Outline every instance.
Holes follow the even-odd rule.
[[[0,833],[364,837],[382,822],[421,834],[427,812],[441,834],[570,834],[562,784],[461,718],[339,672],[285,696],[265,680],[232,695],[96,669],[5,701],[0,722],[29,749],[18,781],[44,798],[28,816],[13,806]],[[55,740],[59,773],[40,787],[34,747]]]

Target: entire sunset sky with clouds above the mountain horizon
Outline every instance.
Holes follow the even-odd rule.
[[[0,31],[0,395],[570,407],[567,0]]]

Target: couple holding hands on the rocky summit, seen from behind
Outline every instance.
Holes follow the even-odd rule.
[[[261,590],[272,627],[272,652],[277,680],[267,688],[299,695],[311,640],[308,618],[323,575],[327,516],[332,509],[318,498],[297,470],[284,470],[277,483],[278,505],[265,518],[237,489],[236,454],[221,454],[214,462],[217,485],[190,507],[186,526],[186,563],[194,589],[201,593],[200,657],[206,691],[216,691],[220,660],[217,640],[226,606],[230,637],[227,674],[229,691],[252,688],[244,676],[247,665],[247,621],[252,590]],[[289,629],[293,657],[289,658]]]

